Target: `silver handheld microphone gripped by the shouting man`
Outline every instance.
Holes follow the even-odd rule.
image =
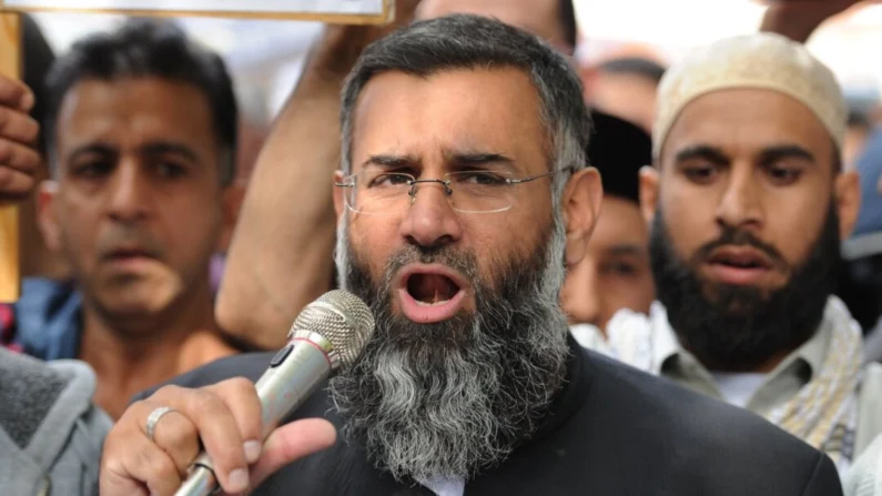
[[[374,316],[352,293],[331,291],[306,305],[255,384],[263,407],[262,439],[298,407],[325,378],[352,365],[374,334]],[[217,489],[214,464],[205,452],[191,464],[175,496],[207,496]]]

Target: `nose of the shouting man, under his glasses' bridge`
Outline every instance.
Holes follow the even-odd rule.
[[[418,183],[415,186],[416,198],[410,202],[402,222],[402,236],[408,243],[422,247],[444,246],[459,241],[463,226],[450,205],[444,184]]]

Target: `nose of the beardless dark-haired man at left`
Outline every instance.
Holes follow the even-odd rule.
[[[108,214],[112,220],[132,224],[149,217],[152,203],[150,179],[141,174],[136,160],[123,158],[108,186]]]

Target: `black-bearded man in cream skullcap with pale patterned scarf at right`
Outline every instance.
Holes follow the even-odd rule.
[[[625,362],[749,408],[842,470],[882,431],[882,367],[833,295],[860,207],[842,170],[845,103],[803,45],[718,41],[659,87],[655,166],[641,171],[658,301],[619,313]]]

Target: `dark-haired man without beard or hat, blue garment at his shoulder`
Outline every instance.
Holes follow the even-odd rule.
[[[3,334],[39,358],[88,362],[115,417],[134,393],[234,352],[209,277],[235,221],[232,83],[173,24],[134,20],[77,43],[47,89],[40,227],[72,280],[26,280]]]

